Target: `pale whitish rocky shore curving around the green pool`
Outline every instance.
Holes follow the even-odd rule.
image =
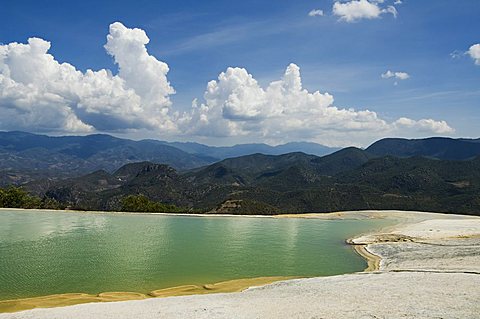
[[[357,252],[369,261],[368,270],[376,270],[370,273],[281,281],[229,294],[34,309],[0,314],[0,318],[91,318],[93,315],[96,318],[361,318],[363,315],[365,318],[400,315],[412,318],[474,318],[475,314],[480,313],[480,306],[476,302],[480,298],[478,217],[398,211],[282,217],[393,218],[399,222],[394,227],[350,240]],[[266,283],[268,281],[258,285]],[[224,291],[241,291],[257,286],[256,283],[246,284],[239,286],[238,290]],[[372,299],[372,296],[367,298],[366,292],[370,295],[372,287],[376,286],[381,292],[376,293],[378,300]],[[194,291],[192,293],[198,293]],[[345,291],[348,291],[348,295]],[[332,300],[331,304],[322,301],[332,296],[337,296],[337,299]],[[353,297],[358,300],[350,300]],[[259,300],[263,303],[258,304],[258,309],[251,306]],[[352,304],[345,305],[346,300]],[[279,313],[285,302],[291,306]],[[356,315],[358,312],[347,311],[358,311],[359,308],[365,311],[362,316]]]

